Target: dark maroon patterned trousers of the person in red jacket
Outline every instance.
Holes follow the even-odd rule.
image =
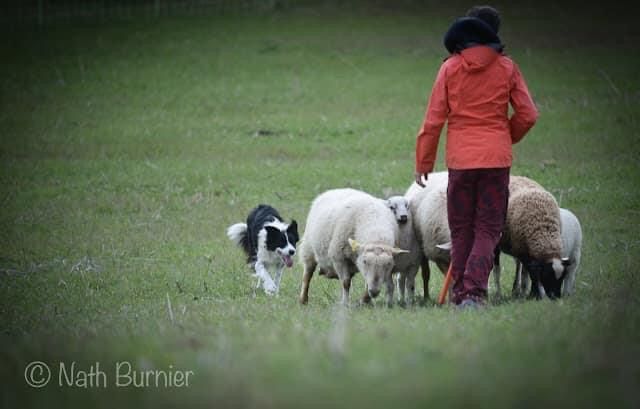
[[[453,302],[484,302],[509,201],[509,168],[449,169]]]

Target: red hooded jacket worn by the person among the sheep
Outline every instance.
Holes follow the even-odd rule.
[[[488,46],[467,48],[440,67],[418,133],[416,172],[433,171],[445,121],[447,167],[478,169],[510,167],[511,145],[537,118],[516,63]]]

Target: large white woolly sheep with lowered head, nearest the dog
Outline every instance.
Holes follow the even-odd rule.
[[[387,304],[393,302],[394,256],[398,225],[384,202],[355,189],[334,189],[311,204],[304,237],[299,246],[303,263],[300,303],[309,300],[309,282],[316,268],[321,275],[342,282],[342,303],[349,303],[351,278],[360,271],[368,295],[375,298],[382,284]]]

